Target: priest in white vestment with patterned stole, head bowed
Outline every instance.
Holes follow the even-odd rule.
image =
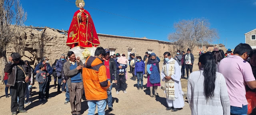
[[[168,108],[166,110],[178,111],[184,107],[183,91],[180,83],[181,68],[178,62],[164,53],[164,65],[161,72],[162,81],[165,81],[165,93]]]

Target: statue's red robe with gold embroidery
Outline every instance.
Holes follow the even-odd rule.
[[[80,12],[82,12],[81,16],[78,15]],[[70,48],[75,46],[91,48],[100,45],[92,17],[88,11],[79,9],[75,12],[68,30],[66,45]]]

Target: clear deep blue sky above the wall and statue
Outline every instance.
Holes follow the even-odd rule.
[[[76,0],[68,0],[75,2]],[[21,0],[27,12],[26,26],[48,26],[68,30],[74,12],[74,3],[66,0]],[[97,33],[168,41],[175,32],[173,24],[180,20],[206,18],[211,28],[219,32],[219,43],[234,49],[245,42],[244,34],[256,28],[256,0],[85,0]],[[149,24],[137,20],[159,24]],[[33,23],[36,24],[33,24]],[[40,25],[38,25],[40,24]],[[218,44],[218,40],[214,42]]]

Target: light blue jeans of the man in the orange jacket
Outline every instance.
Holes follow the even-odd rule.
[[[98,115],[105,115],[105,108],[106,108],[106,99],[103,100],[88,100],[88,115],[94,115],[96,105],[98,106]]]

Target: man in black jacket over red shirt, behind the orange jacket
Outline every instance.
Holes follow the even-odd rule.
[[[112,80],[113,80],[113,75],[114,75],[114,81],[115,83],[117,83],[117,73],[116,73],[116,62],[113,58],[110,58],[110,52],[108,49],[105,49],[106,51],[106,56],[103,58],[103,64],[105,65],[106,67],[106,73],[107,73],[107,77],[108,77],[108,80],[110,81],[111,85],[109,87],[109,89],[107,90],[107,93],[108,93],[108,109],[110,111],[113,111],[113,103],[112,103],[112,93],[111,93],[111,89],[112,89]]]

